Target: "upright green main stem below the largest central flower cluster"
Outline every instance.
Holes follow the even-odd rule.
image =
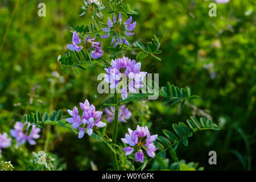
[[[117,104],[117,106],[115,106],[114,129],[113,129],[112,140],[113,140],[113,143],[116,144],[116,142],[117,142],[117,129],[118,129],[118,97],[117,97],[117,92],[116,91],[114,93],[114,98],[115,98],[115,104]],[[113,148],[115,150],[115,146],[113,146]],[[112,152],[112,159],[113,159],[114,169],[119,171],[118,162],[117,162],[117,155],[115,155],[113,152]]]

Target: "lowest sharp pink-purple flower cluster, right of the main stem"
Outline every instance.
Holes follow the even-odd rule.
[[[125,134],[125,138],[121,138],[123,143],[127,143],[130,147],[124,147],[123,151],[125,151],[125,155],[130,155],[133,153],[135,148],[135,162],[141,161],[143,163],[144,155],[141,148],[146,147],[147,155],[151,158],[155,157],[155,151],[158,148],[155,148],[153,142],[158,137],[158,135],[150,135],[150,131],[147,126],[140,127],[137,125],[136,130],[128,129],[129,133]]]

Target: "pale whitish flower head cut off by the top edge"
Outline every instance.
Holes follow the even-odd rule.
[[[98,18],[102,18],[102,13],[100,12],[105,8],[104,5],[102,5],[102,2],[100,0],[88,0],[87,2],[84,0],[85,6],[82,6],[82,9],[85,10],[82,12],[82,15],[85,15],[87,11],[92,11],[92,19],[94,19],[94,14],[98,16]]]

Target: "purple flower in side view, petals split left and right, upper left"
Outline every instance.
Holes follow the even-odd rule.
[[[97,59],[102,56],[104,53],[101,49],[101,42],[94,42],[94,38],[90,38],[90,35],[82,41],[79,36],[77,35],[77,32],[73,32],[73,38],[72,43],[68,44],[68,49],[71,51],[81,51],[82,48],[86,49],[90,52],[90,56],[93,59]]]

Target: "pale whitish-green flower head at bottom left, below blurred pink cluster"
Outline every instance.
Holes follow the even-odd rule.
[[[51,156],[48,156],[48,154],[45,151],[39,151],[38,154],[33,152],[33,155],[36,159],[30,160],[30,162],[34,164],[39,164],[40,166],[45,166],[49,171],[51,171],[51,168],[53,168],[52,163],[55,162],[55,159]]]

